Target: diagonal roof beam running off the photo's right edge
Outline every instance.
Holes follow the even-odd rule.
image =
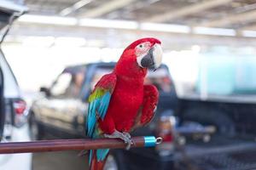
[[[207,27],[222,27],[222,26],[230,26],[232,24],[241,23],[245,21],[256,20],[256,10],[242,13],[242,14],[230,14],[224,16],[218,20],[211,20],[209,22],[203,23],[200,26]]]

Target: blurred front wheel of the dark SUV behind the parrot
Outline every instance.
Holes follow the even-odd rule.
[[[35,115],[32,113],[29,117],[30,137],[32,140],[41,140],[44,137],[44,127],[36,121]]]

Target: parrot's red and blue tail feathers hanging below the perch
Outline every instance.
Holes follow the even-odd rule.
[[[101,153],[102,151],[107,152],[107,154],[104,156],[103,159],[99,160],[97,156],[99,156],[99,153]],[[107,157],[108,157],[107,150],[90,150],[90,154],[89,154],[90,170],[103,170]]]

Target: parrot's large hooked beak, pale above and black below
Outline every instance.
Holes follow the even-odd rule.
[[[143,68],[156,70],[162,62],[163,50],[159,43],[155,43],[148,53],[137,58],[137,63]]]

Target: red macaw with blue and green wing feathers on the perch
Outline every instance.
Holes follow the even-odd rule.
[[[125,48],[113,72],[104,75],[89,97],[87,136],[119,138],[130,149],[129,134],[152,119],[158,103],[158,90],[153,85],[143,85],[148,68],[160,66],[162,49],[160,41],[148,37],[132,42]],[[101,170],[108,149],[90,150],[91,170]]]

